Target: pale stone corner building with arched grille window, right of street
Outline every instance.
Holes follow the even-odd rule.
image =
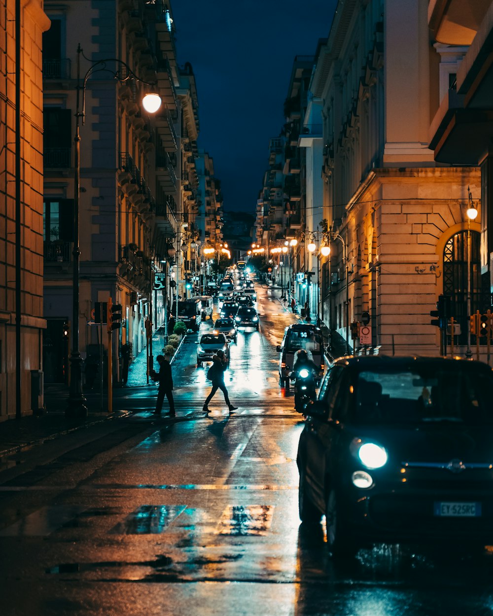
[[[478,221],[467,254],[470,195],[481,209],[479,168],[439,162],[430,147],[434,115],[467,46],[436,46],[427,12],[427,0],[339,2],[310,86],[323,124],[323,218],[332,229],[324,236],[331,256],[320,257],[324,320],[346,338],[368,312],[370,352],[438,354],[430,310],[446,294],[463,354],[468,257],[471,309],[491,305]]]

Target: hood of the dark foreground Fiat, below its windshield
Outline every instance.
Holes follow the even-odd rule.
[[[349,440],[361,438],[386,448],[389,459],[443,462],[454,458],[493,464],[493,425],[466,426],[450,422],[410,424],[401,428],[350,428]]]

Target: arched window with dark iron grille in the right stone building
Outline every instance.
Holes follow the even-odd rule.
[[[482,310],[484,304],[481,292],[480,234],[471,231],[471,314]],[[467,344],[469,316],[467,314],[467,230],[452,235],[443,251],[443,293],[451,298],[450,316],[460,324],[458,344]]]

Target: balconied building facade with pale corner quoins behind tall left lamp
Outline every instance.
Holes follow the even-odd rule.
[[[99,357],[101,345],[106,356],[95,307],[109,298],[123,309],[123,326],[112,336],[118,381],[122,347],[143,351],[165,323],[173,294],[183,294],[189,254],[179,270],[169,250],[179,249],[185,229],[195,230],[195,80],[190,65],[177,63],[169,2],[48,1],[45,10],[52,23],[43,44],[46,381],[67,382],[67,327],[78,327],[83,359]],[[155,115],[142,107],[148,89],[162,99]],[[71,317],[75,198],[78,323]],[[177,286],[169,285],[173,279]]]

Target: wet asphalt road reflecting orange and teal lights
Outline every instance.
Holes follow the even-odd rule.
[[[338,564],[322,525],[300,527],[302,423],[275,353],[295,317],[258,293],[261,331],[231,349],[234,415],[221,392],[202,413],[210,384],[190,337],[173,363],[176,419],[150,415],[155,390],[128,388],[128,418],[0,472],[2,616],[493,614],[489,553],[379,545]]]

